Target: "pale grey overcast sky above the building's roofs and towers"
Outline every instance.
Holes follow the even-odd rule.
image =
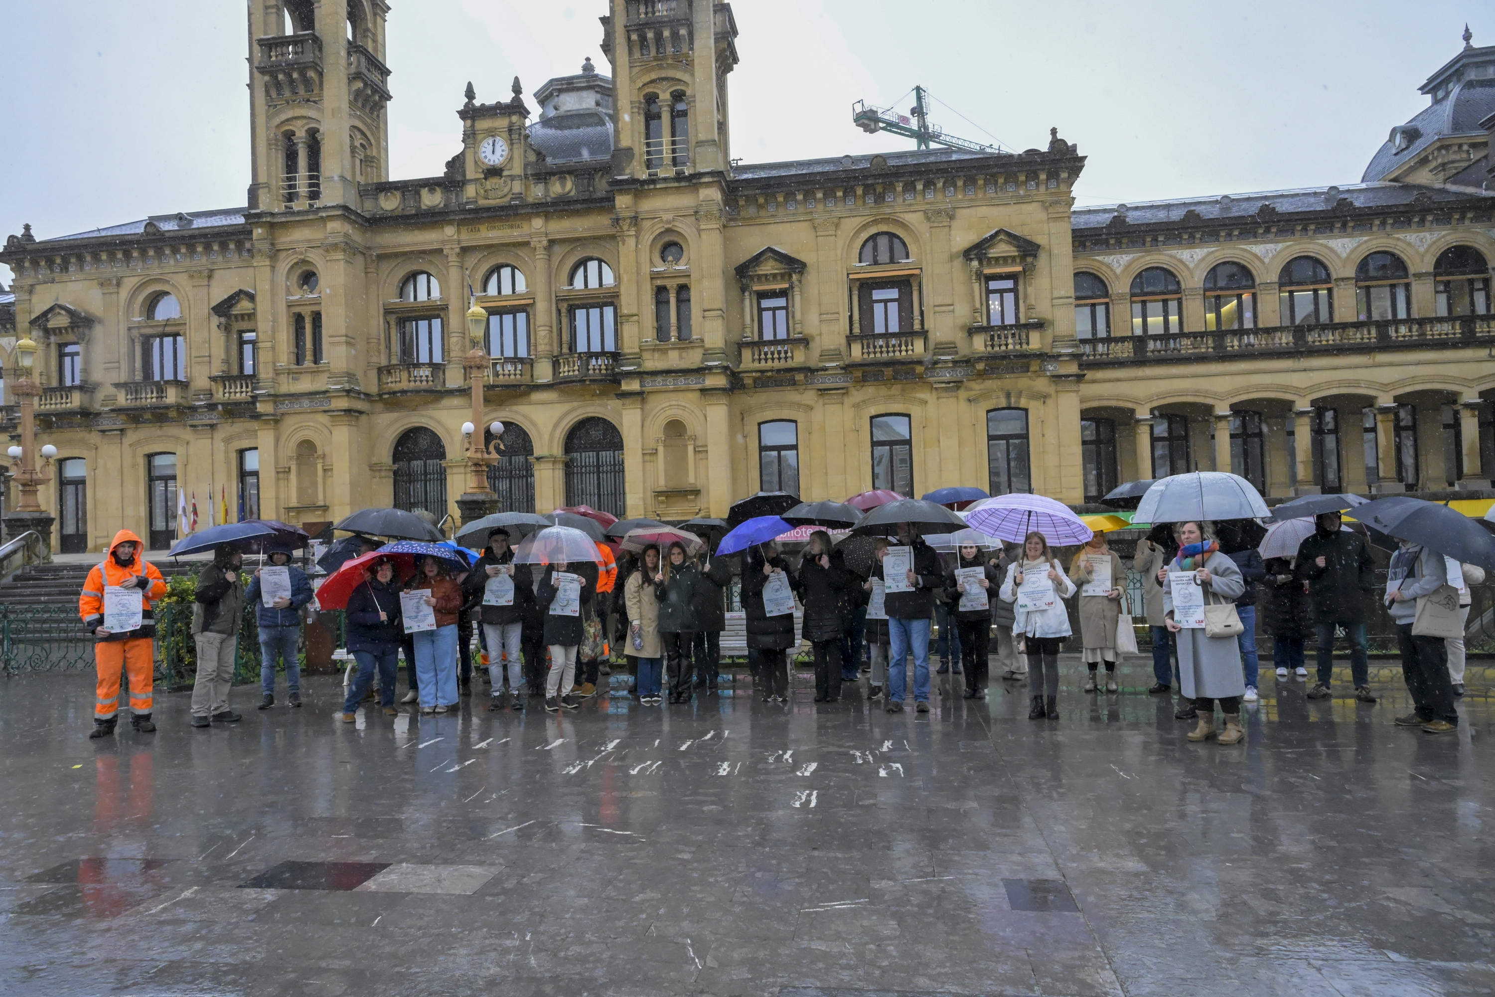
[[[456,109],[602,72],[604,0],[392,0],[390,175],[431,176],[460,148]],[[1008,3],[736,0],[733,155],[773,161],[912,148],[851,124],[851,105],[943,105],[949,135],[1088,157],[1081,205],[1357,182],[1428,99],[1488,3]],[[244,0],[7,4],[0,55],[0,236],[242,206],[250,182]],[[531,106],[534,100],[531,99]],[[0,280],[10,275],[0,268]]]

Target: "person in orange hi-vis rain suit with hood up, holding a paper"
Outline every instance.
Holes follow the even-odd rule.
[[[94,700],[94,729],[88,737],[109,737],[120,717],[120,677],[130,674],[130,723],[136,731],[155,731],[151,723],[151,682],[154,679],[155,617],[151,605],[166,595],[166,580],[152,564],[145,564],[145,544],[129,529],[121,529],[109,544],[109,556],[96,565],[78,596],[78,614],[94,635],[94,667],[99,689]],[[105,587],[141,590],[141,625],[130,631],[105,629]]]

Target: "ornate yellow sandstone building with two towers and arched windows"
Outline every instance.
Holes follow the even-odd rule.
[[[1195,466],[1489,487],[1495,48],[1429,79],[1362,184],[1075,211],[1057,135],[734,163],[709,0],[611,0],[611,78],[469,85],[446,172],[390,179],[386,10],[250,4],[248,208],[7,241],[64,550],[167,546],[178,489],[203,519],[454,516],[474,299],[508,508],[1078,504]]]

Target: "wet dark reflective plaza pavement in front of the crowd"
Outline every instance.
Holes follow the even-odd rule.
[[[1495,993],[1482,670],[1450,735],[1392,726],[1392,670],[1374,707],[1266,673],[1221,747],[1145,664],[1066,667],[1052,722],[801,673],[344,725],[317,677],[105,741],[88,676],[0,680],[0,994]]]

